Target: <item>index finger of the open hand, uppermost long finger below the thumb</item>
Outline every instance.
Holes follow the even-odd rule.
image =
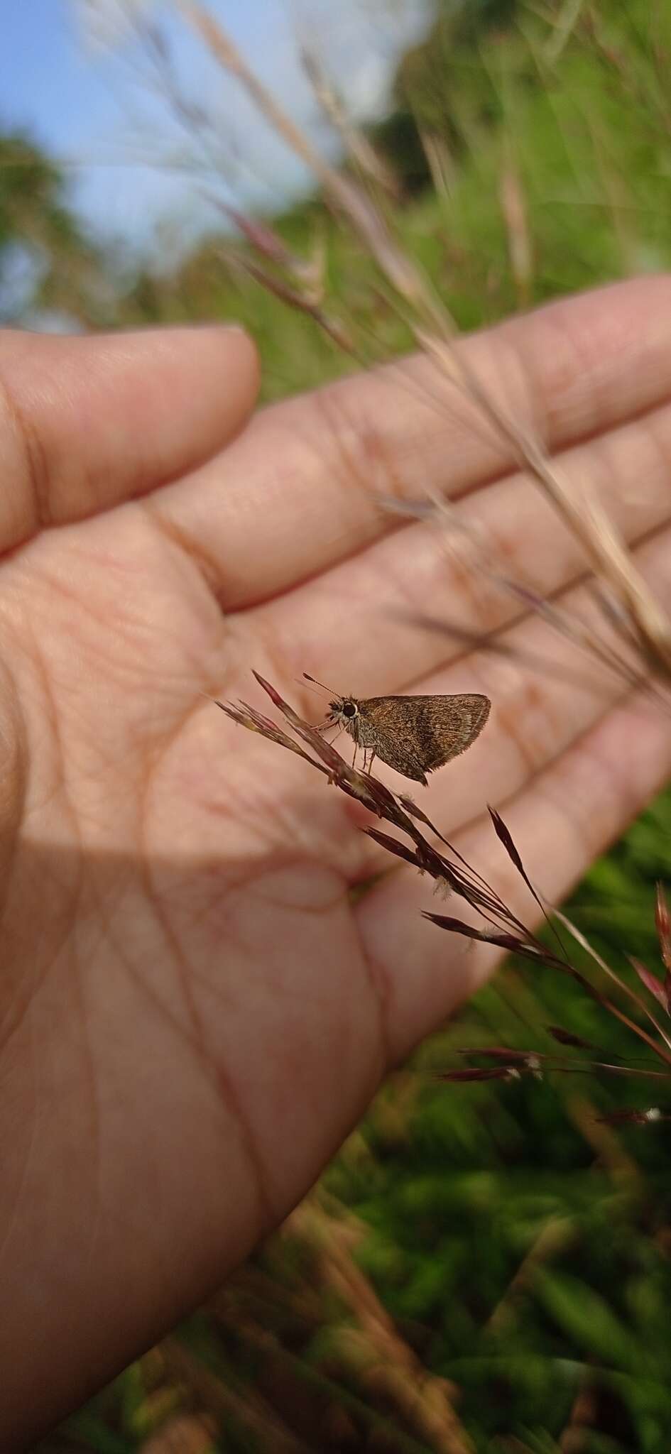
[[[550,304],[458,348],[507,411],[557,449],[668,395],[670,302],[670,278],[639,279]],[[226,477],[213,461],[153,503],[207,551],[231,611],[396,529],[380,496],[442,490],[454,499],[511,462],[463,395],[415,359],[263,410],[227,455]]]

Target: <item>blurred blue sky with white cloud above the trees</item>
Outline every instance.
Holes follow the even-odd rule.
[[[317,51],[352,113],[365,116],[383,105],[399,54],[424,32],[431,10],[431,0],[207,3],[282,105],[323,145],[329,137],[301,73],[297,41]],[[156,89],[147,51],[119,25],[131,7],[162,25],[180,93],[214,121],[207,160],[202,142],[176,124],[164,84]],[[106,44],[100,44],[103,25]],[[167,3],[6,4],[3,55],[0,126],[26,128],[57,157],[74,206],[98,234],[151,252],[163,240],[179,252],[213,218],[204,189],[272,209],[307,185],[301,166]],[[214,161],[210,170],[208,161]]]

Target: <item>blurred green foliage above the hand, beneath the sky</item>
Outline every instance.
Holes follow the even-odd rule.
[[[399,237],[461,327],[671,266],[670,64],[671,6],[662,0],[442,0],[429,41],[399,68],[396,112],[373,138],[405,186],[393,217]],[[47,195],[49,188],[58,212],[65,193],[51,170]],[[51,208],[49,198],[47,220]],[[360,361],[409,348],[370,259],[319,198],[274,225],[306,260],[323,256],[325,298],[355,324]],[[47,246],[44,218],[35,231]],[[60,273],[51,233],[54,305],[95,327],[102,313],[105,324],[124,327],[234,317],[259,342],[266,400],[358,366],[311,318],[231,265],[230,243],[229,234],[205,238],[172,272],[157,262],[131,273],[125,260],[108,259],[106,282],[82,297],[77,269]],[[73,256],[82,247],[67,240]]]

